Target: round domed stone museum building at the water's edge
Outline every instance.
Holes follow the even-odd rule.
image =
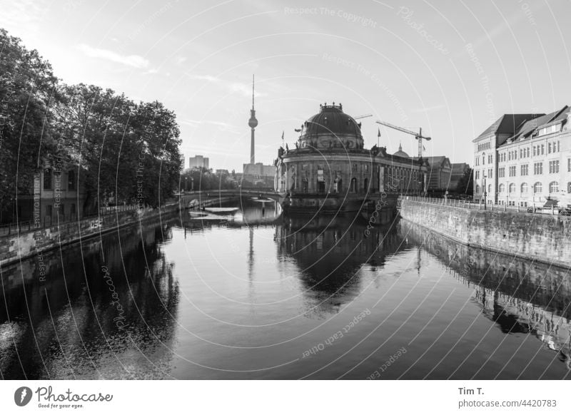
[[[275,187],[290,194],[292,210],[360,210],[382,196],[425,190],[426,165],[399,148],[366,149],[361,124],[343,106],[320,105],[301,125],[295,148],[278,150]]]

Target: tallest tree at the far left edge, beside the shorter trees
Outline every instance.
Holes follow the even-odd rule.
[[[54,163],[56,86],[50,64],[0,29],[0,210],[31,194],[34,173]]]

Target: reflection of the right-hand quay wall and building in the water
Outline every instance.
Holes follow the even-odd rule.
[[[404,220],[400,232],[472,284],[473,302],[503,333],[533,335],[571,369],[568,269],[470,248]]]

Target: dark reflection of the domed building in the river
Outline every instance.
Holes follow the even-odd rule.
[[[385,257],[403,248],[397,232],[372,227],[354,217],[288,217],[276,227],[278,256],[295,260],[316,311],[338,311],[360,292],[364,264],[382,267]]]

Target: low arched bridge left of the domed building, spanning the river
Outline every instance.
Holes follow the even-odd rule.
[[[281,204],[285,200],[285,193],[256,189],[215,189],[197,190],[196,192],[185,192],[179,195],[181,206],[187,208],[221,205],[236,198],[271,199]]]

